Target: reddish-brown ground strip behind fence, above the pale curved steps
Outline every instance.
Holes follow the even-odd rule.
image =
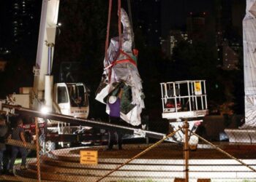
[[[124,145],[122,150],[106,150],[104,147],[91,147],[80,150],[97,150],[99,158],[131,158],[147,149],[151,145]],[[256,146],[251,145],[219,145],[228,154],[238,159],[256,159]],[[79,154],[80,150],[69,151],[73,154]],[[162,143],[159,146],[147,151],[138,159],[184,159],[183,146],[178,144]],[[217,149],[197,149],[189,150],[189,159],[230,159],[227,155],[217,151]]]

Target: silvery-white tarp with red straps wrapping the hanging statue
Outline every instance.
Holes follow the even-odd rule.
[[[121,24],[123,25],[123,33],[121,35],[121,50],[123,52],[120,53],[119,37],[112,38],[108,47],[107,57],[104,59],[105,69],[102,74],[102,82],[99,84],[95,99],[105,103],[107,95],[116,89],[116,83],[124,82],[127,86],[127,92],[131,93],[130,98],[132,99],[129,100],[129,104],[132,107],[125,113],[121,110],[121,119],[124,119],[129,124],[138,126],[141,124],[141,111],[145,107],[143,102],[144,95],[142,80],[136,63],[137,58],[132,53],[132,28],[124,9],[121,9]],[[121,99],[123,100],[123,97]],[[106,106],[106,112],[109,114],[108,106]]]

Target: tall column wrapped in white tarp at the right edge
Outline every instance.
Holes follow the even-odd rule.
[[[241,128],[256,128],[256,0],[246,0],[244,36],[245,123]]]

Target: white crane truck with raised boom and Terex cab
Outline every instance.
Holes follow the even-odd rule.
[[[42,113],[53,112],[86,119],[89,116],[89,91],[86,85],[81,82],[53,84],[53,51],[58,15],[59,0],[42,1],[33,87],[21,87],[18,94],[8,95],[1,103],[19,105]],[[33,125],[27,124],[25,129],[32,130]],[[59,134],[72,132],[72,127],[63,122],[48,119],[47,125]],[[74,126],[73,129],[76,130],[77,127]]]

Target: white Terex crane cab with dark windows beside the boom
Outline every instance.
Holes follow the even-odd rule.
[[[83,83],[56,83],[53,100],[61,114],[87,118],[89,115],[88,90]]]

